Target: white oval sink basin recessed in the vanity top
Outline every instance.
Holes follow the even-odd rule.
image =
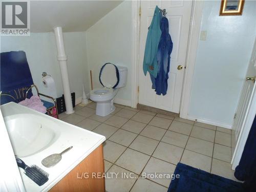
[[[14,154],[26,157],[49,147],[58,138],[54,132],[54,122],[44,123],[44,119],[34,114],[16,114],[4,118]]]

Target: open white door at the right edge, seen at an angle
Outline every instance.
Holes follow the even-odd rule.
[[[236,153],[243,152],[243,147],[240,147],[241,144],[240,140],[244,139],[243,132],[248,132],[248,129],[250,129],[250,125],[248,126],[247,120],[250,118],[254,119],[253,117],[249,117],[249,110],[252,106],[252,99],[253,94],[256,89],[256,39],[254,40],[254,47],[252,50],[250,63],[248,66],[248,70],[246,73],[242,93],[239,99],[239,104],[237,108],[236,115],[234,117],[233,127],[232,127],[232,162],[234,160],[234,157],[237,155]],[[236,147],[236,148],[235,148]],[[238,161],[239,162],[239,161]],[[238,164],[236,163],[236,165]],[[232,163],[233,164],[233,163]],[[236,165],[233,165],[233,167],[236,167]]]

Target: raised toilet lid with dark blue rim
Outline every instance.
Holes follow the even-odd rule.
[[[99,82],[103,87],[115,89],[119,83],[119,69],[113,63],[105,63],[99,72]]]

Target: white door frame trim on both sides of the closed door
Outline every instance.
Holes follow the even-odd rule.
[[[201,29],[201,20],[203,13],[203,1],[193,1],[189,34],[188,34],[188,45],[185,61],[185,71],[183,77],[183,86],[181,93],[180,103],[180,117],[187,118],[188,108],[190,101],[190,93],[192,88],[192,81],[197,56],[197,46]],[[136,108],[139,97],[139,38],[140,38],[140,1],[132,1],[132,108]]]

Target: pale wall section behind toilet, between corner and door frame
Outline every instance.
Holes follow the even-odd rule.
[[[132,2],[125,1],[102,17],[86,31],[89,71],[93,73],[94,88],[99,83],[99,70],[106,62],[128,68],[126,87],[119,90],[115,102],[131,105],[132,67]]]

